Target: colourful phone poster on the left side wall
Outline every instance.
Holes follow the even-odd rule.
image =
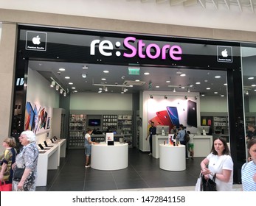
[[[52,108],[43,107],[38,104],[26,103],[24,130],[31,130],[40,134],[51,129]]]

